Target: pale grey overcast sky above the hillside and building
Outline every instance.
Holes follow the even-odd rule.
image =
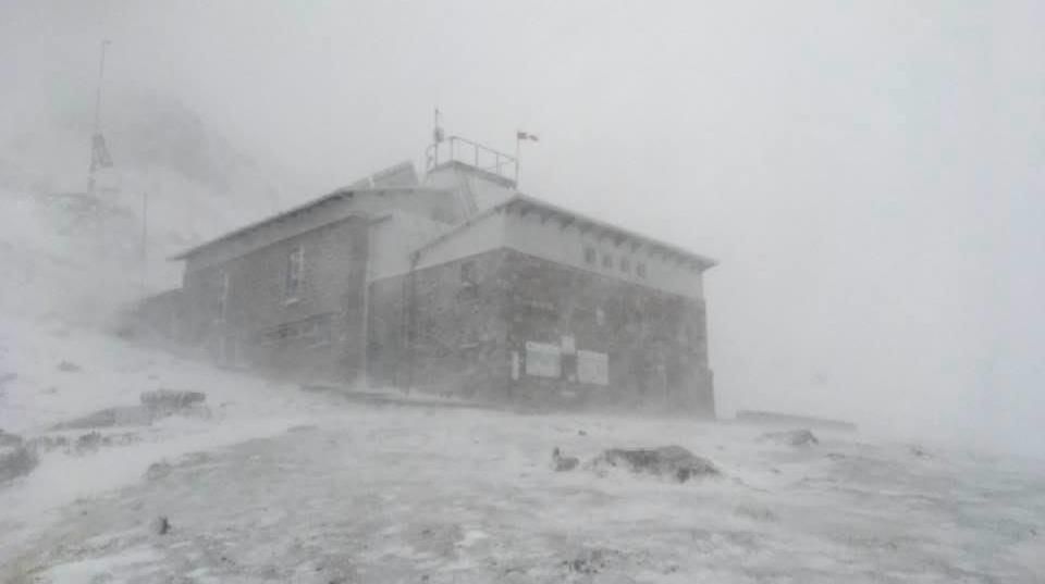
[[[113,90],[183,99],[302,199],[420,163],[437,105],[532,132],[525,191],[721,260],[722,413],[1045,448],[1041,2],[0,7],[9,122],[89,103],[109,38]]]

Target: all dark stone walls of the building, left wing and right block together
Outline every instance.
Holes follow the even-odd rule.
[[[348,216],[235,257],[189,259],[180,340],[304,380],[366,378],[532,408],[714,414],[701,300],[507,248],[367,289],[368,229]],[[530,371],[527,359],[542,357],[528,344],[560,351],[553,374]],[[581,373],[581,353],[601,359],[605,383]]]

